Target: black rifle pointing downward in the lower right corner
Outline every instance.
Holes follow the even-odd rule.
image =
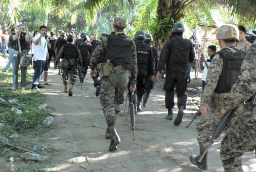
[[[198,162],[202,162],[204,155],[207,153],[208,149],[210,148],[211,144],[214,142],[215,139],[217,139],[222,131],[224,130],[225,126],[227,125],[227,123],[229,122],[230,118],[233,116],[233,114],[235,113],[237,107],[235,109],[232,109],[231,111],[227,112],[221,119],[221,121],[219,122],[217,128],[215,129],[214,133],[212,134],[212,137],[210,138],[210,143],[207,146],[207,148],[205,149],[205,151],[203,152],[202,155],[200,155]]]

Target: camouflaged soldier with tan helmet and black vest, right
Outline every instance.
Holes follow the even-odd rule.
[[[231,24],[222,25],[217,33],[220,50],[211,60],[208,68],[206,85],[203,91],[200,111],[203,114],[198,123],[197,141],[200,148],[200,155],[209,144],[209,136],[214,132],[221,120],[221,104],[224,96],[230,91],[232,85],[241,75],[241,65],[244,59],[244,52],[235,47],[235,42],[239,40],[238,28]],[[190,161],[200,169],[207,169],[207,153],[202,162],[199,156],[191,155]]]

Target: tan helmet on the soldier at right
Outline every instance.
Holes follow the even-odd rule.
[[[236,39],[239,41],[239,30],[233,24],[224,24],[218,29],[216,39]]]

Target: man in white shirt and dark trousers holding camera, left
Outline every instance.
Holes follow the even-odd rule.
[[[33,68],[34,77],[32,82],[32,89],[38,90],[44,87],[40,85],[40,78],[42,72],[44,72],[46,64],[46,56],[48,49],[51,49],[51,44],[46,41],[47,27],[40,26],[39,34],[34,37],[34,56],[33,56]]]

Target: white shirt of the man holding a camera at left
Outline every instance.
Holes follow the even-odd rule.
[[[40,34],[35,35],[34,42],[40,37]],[[36,60],[46,60],[46,55],[48,52],[47,42],[45,36],[41,37],[41,40],[37,45],[34,45],[34,56],[33,61]]]

